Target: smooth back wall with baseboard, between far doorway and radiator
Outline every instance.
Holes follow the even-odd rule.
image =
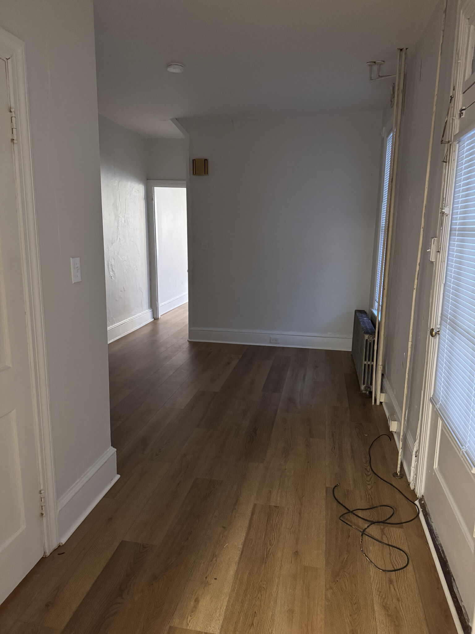
[[[180,120],[190,338],[350,349],[369,302],[381,112]],[[208,249],[202,249],[202,241]]]

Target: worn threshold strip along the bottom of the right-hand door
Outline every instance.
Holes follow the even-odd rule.
[[[422,528],[426,534],[426,540],[428,541],[440,583],[452,614],[453,623],[455,623],[455,628],[457,628],[457,633],[471,634],[472,628],[469,624],[467,612],[462,604],[457,584],[448,566],[447,557],[445,557],[445,552],[431,521],[431,515],[426,506],[424,496],[416,500],[416,504],[421,510],[419,518],[421,519]]]

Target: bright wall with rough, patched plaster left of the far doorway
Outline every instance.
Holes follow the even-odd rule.
[[[99,115],[109,340],[153,319],[150,309],[146,139]]]

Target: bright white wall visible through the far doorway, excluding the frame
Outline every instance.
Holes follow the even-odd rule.
[[[188,301],[186,188],[154,187],[158,316]]]

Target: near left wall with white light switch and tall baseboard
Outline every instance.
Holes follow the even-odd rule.
[[[64,538],[116,474],[92,1],[1,0],[0,25],[26,44],[58,528]],[[74,285],[72,256],[80,256],[82,266],[82,281]]]

